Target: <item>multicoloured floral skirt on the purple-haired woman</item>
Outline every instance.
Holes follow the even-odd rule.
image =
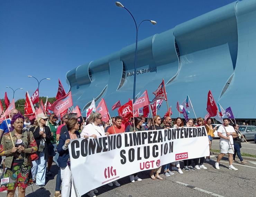
[[[26,188],[28,184],[33,185],[31,167],[22,163],[13,163],[11,168],[7,168],[2,174],[1,179],[8,180],[8,183],[1,184],[0,192],[5,190],[13,190],[16,187]]]

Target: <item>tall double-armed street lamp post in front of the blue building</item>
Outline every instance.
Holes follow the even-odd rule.
[[[139,23],[139,26],[137,26],[137,23],[136,23],[136,21],[135,21],[135,18],[132,16],[132,14],[131,14],[131,12],[127,9],[127,8],[125,8],[123,5],[122,5],[122,3],[120,3],[120,2],[116,2],[116,6],[117,7],[120,7],[120,8],[124,8],[124,9],[126,9],[128,12],[129,12],[129,14],[131,15],[131,17],[132,17],[132,19],[134,20],[134,23],[135,23],[135,26],[136,26],[136,47],[135,47],[135,62],[134,62],[134,83],[133,83],[133,102],[135,101],[135,89],[136,89],[136,63],[137,63],[137,47],[138,47],[138,30],[139,30],[139,26],[140,26],[140,24],[142,23],[142,22],[144,22],[144,21],[150,21],[153,25],[155,25],[156,24],[156,21],[153,21],[153,20],[143,20],[143,21],[141,21],[140,23]]]

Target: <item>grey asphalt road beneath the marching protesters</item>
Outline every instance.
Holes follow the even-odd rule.
[[[216,160],[216,156],[212,156]],[[183,162],[181,161],[183,167]],[[222,160],[220,170],[213,167],[214,162],[205,163],[206,170],[185,171],[179,174],[165,177],[164,180],[152,180],[149,178],[149,171],[138,173],[143,181],[131,183],[129,177],[119,179],[120,187],[109,187],[108,185],[98,188],[98,197],[107,196],[127,196],[127,197],[146,197],[146,196],[255,196],[256,185],[256,162],[247,162],[246,165],[234,164],[238,171],[228,169],[227,160]],[[124,169],[125,170],[125,169]],[[53,165],[52,171],[57,174],[57,167]],[[97,172],[95,172],[97,173]],[[53,196],[55,191],[56,175],[49,177],[44,189],[37,186],[29,186],[26,190],[27,197],[48,197]],[[84,182],[90,181],[90,177],[85,177]],[[0,193],[6,196],[7,193]],[[15,196],[18,196],[17,194]],[[87,196],[87,195],[84,195]]]

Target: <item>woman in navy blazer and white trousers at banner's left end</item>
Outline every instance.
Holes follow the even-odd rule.
[[[71,190],[71,196],[75,196],[73,180],[72,180],[72,186],[71,186],[72,173],[70,170],[70,156],[68,151],[68,144],[70,142],[70,139],[80,138],[80,134],[78,132],[79,123],[77,121],[77,118],[69,119],[66,122],[66,126],[67,126],[68,132],[65,132],[60,136],[60,141],[57,147],[57,151],[60,154],[57,161],[58,161],[58,165],[61,168],[61,180],[62,180],[61,196],[62,197],[69,197],[70,190]],[[88,138],[88,136],[85,136],[85,138]]]

